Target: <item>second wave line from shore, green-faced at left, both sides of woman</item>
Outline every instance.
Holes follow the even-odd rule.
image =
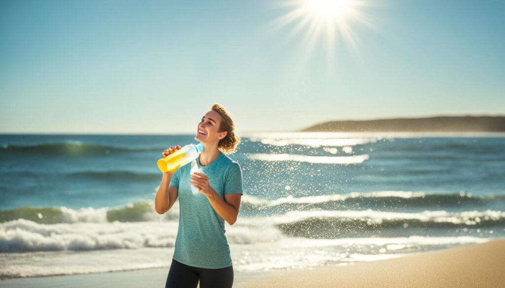
[[[474,196],[471,193],[426,194],[412,191],[351,192],[347,194],[319,195],[307,197],[282,197],[267,200],[252,195],[243,195],[240,211],[255,217],[268,214],[283,214],[289,211],[309,210],[358,210],[369,207],[395,209],[401,207],[487,207],[496,201],[505,202],[505,195]],[[179,203],[165,214],[159,215],[153,200],[142,200],[118,207],[83,207],[72,209],[62,207],[24,206],[10,210],[0,210],[0,222],[26,219],[36,223],[108,223],[141,221],[174,221],[178,219]]]

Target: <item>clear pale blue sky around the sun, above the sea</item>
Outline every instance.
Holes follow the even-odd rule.
[[[193,133],[215,102],[239,133],[504,114],[505,1],[372,0],[335,42],[283,2],[3,0],[0,133]]]

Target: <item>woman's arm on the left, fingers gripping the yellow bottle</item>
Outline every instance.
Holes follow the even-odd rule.
[[[177,145],[175,147],[172,146],[170,149],[165,149],[165,151],[162,153],[163,158],[179,149],[181,149],[180,145]],[[170,208],[172,208],[175,203],[175,199],[177,199],[178,189],[170,186],[170,180],[172,179],[174,172],[175,170],[163,172],[163,178],[161,180],[160,187],[158,188],[158,192],[156,192],[155,198],[155,209],[158,214],[164,214],[170,210]]]

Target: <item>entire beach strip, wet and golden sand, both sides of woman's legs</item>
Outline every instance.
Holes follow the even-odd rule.
[[[314,269],[235,272],[234,287],[503,287],[505,239]],[[167,268],[8,279],[3,287],[164,287]]]

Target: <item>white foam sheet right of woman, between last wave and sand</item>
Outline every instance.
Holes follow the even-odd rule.
[[[406,256],[434,248],[448,248],[483,243],[489,239],[477,237],[402,237],[306,239],[288,238],[274,243],[259,243],[254,252],[248,247],[231,246],[234,268],[238,271],[296,269],[323,266],[328,263],[373,261]],[[403,248],[388,249],[390,245]],[[399,246],[396,246],[399,247]]]

